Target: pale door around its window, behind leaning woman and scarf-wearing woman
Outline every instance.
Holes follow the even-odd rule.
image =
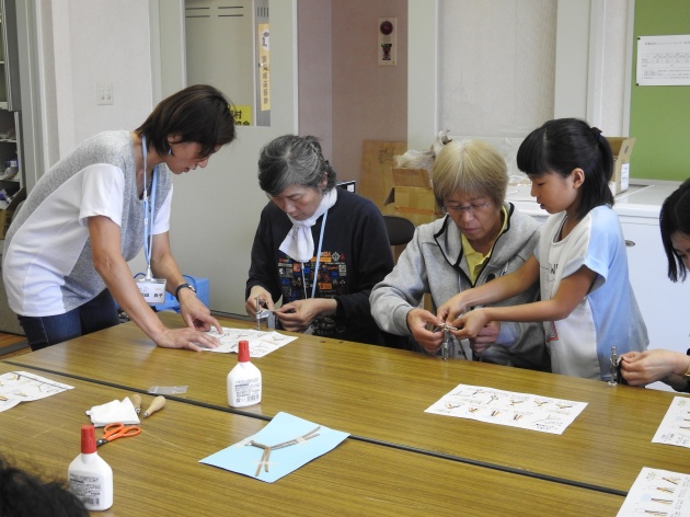
[[[299,127],[297,0],[269,0],[269,9],[271,126],[237,126],[237,140],[205,170],[173,180],[170,235],[175,260],[183,274],[209,279],[209,308],[222,315],[245,315],[251,249],[267,203],[256,180],[260,150]],[[152,0],[150,12],[153,92],[162,99],[186,85],[184,1]]]

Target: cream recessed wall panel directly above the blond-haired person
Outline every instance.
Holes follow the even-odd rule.
[[[552,0],[440,2],[439,128],[524,137],[551,118],[555,20]]]

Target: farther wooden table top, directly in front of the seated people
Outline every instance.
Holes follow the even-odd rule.
[[[176,314],[162,318],[182,324]],[[263,375],[263,400],[239,414],[271,418],[284,411],[363,441],[620,495],[643,467],[686,472],[690,464],[690,450],[651,443],[675,395],[669,392],[306,335],[253,361]],[[188,386],[180,400],[231,411],[226,376],[237,356],[158,348],[129,323],[11,363],[133,390]],[[459,383],[588,405],[563,435],[424,413]]]

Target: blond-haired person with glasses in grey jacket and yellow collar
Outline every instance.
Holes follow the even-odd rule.
[[[434,194],[446,217],[419,226],[393,272],[371,291],[371,313],[384,331],[412,335],[413,347],[437,354],[444,321],[422,307],[430,292],[434,308],[458,291],[517,269],[538,242],[539,223],[505,202],[505,160],[481,140],[450,141],[432,171]],[[539,286],[506,300],[515,305],[539,298]],[[471,347],[485,348],[481,359],[536,370],[550,370],[542,325],[490,323]],[[456,356],[461,348],[456,344]],[[479,357],[479,356],[478,356]]]

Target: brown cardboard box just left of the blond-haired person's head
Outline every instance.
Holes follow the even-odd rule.
[[[392,169],[393,187],[384,205],[392,214],[410,219],[416,226],[432,222],[442,216],[436,205],[432,180],[426,169]]]

